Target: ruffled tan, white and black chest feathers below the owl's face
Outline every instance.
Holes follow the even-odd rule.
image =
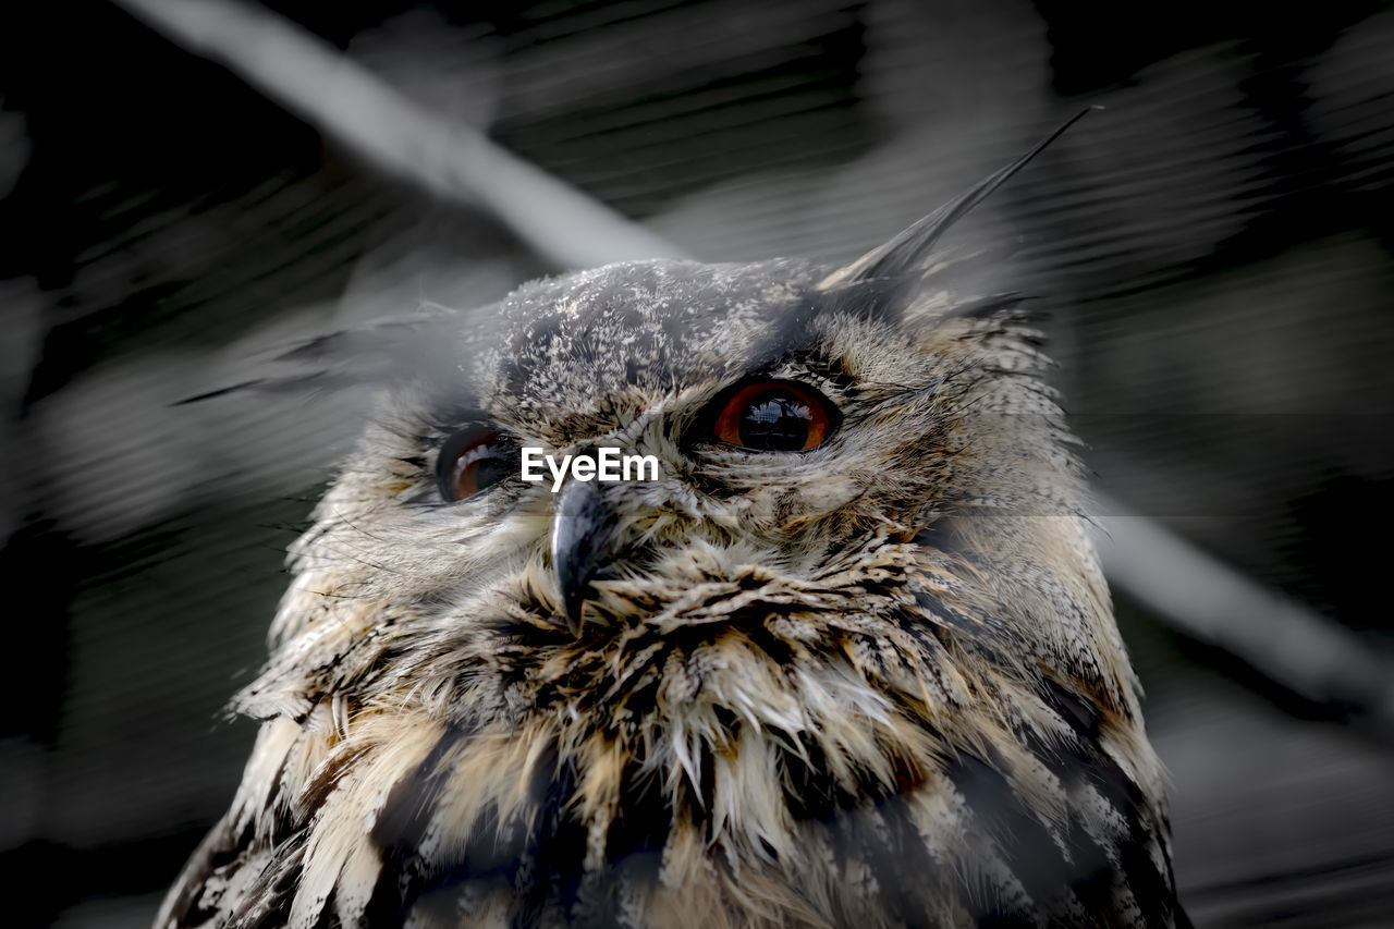
[[[1171,925],[1126,704],[1033,672],[903,557],[746,586],[689,604],[687,626],[567,642],[495,622],[452,671],[466,714],[420,674],[364,677],[353,706],[302,689],[298,718],[275,697],[191,908],[238,926]]]

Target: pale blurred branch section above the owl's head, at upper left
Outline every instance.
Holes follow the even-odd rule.
[[[679,257],[609,206],[399,93],[337,49],[236,0],[113,0],[230,71],[376,169],[495,215],[558,268]]]

